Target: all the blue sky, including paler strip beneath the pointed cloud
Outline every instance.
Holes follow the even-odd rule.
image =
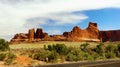
[[[83,20],[82,22],[77,24],[67,24],[67,25],[43,25],[45,31],[48,29],[54,30],[58,29],[55,33],[62,34],[64,31],[71,31],[74,26],[79,26],[82,29],[88,27],[89,22],[95,22],[98,24],[99,30],[120,30],[120,9],[119,8],[106,8],[100,10],[87,10],[87,11],[76,11],[73,12],[74,14],[85,14],[88,16],[87,19]],[[53,21],[49,21],[53,22]],[[50,34],[53,34],[51,32]]]

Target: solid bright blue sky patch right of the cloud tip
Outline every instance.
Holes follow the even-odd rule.
[[[101,10],[90,10],[84,12],[89,18],[84,22],[93,21],[98,23],[100,30],[120,29],[120,9],[107,8]]]

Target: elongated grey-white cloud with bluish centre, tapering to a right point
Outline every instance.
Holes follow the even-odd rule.
[[[66,25],[77,24],[88,17],[84,14],[75,13],[53,13],[45,16],[28,19],[28,25],[38,27],[40,25]],[[38,26],[37,26],[38,25]]]

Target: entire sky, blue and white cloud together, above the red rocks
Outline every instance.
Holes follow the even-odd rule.
[[[0,0],[0,38],[43,28],[62,34],[74,26],[85,29],[89,22],[99,30],[120,29],[120,0]]]

